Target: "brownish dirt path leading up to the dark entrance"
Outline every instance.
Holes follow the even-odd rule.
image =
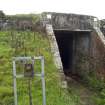
[[[95,97],[95,93],[87,89],[82,84],[78,83],[74,79],[67,78],[69,91],[79,97],[78,105],[96,105],[93,97]]]

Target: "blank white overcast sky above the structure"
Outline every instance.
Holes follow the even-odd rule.
[[[105,0],[0,0],[6,14],[65,12],[105,18]]]

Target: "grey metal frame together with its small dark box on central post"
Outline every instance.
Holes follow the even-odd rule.
[[[34,73],[34,65],[35,61],[40,60],[41,62],[41,73]],[[24,74],[17,74],[16,70],[16,62],[23,61],[24,64]],[[27,63],[31,61],[31,63]],[[42,97],[43,97],[43,105],[46,105],[46,92],[45,92],[45,75],[44,75],[44,57],[14,57],[13,58],[13,88],[14,88],[14,104],[18,105],[18,97],[17,97],[17,78],[28,78],[28,89],[29,89],[29,103],[32,103],[32,92],[31,92],[31,78],[34,76],[41,77],[42,80]]]

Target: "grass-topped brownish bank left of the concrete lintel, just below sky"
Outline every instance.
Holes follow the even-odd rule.
[[[0,11],[0,30],[40,31],[40,14],[5,15]]]

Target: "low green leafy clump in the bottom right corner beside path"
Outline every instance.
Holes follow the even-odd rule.
[[[95,73],[94,73],[95,74]],[[95,75],[88,76],[89,88],[97,93],[97,97],[93,97],[96,105],[105,105],[105,80],[98,79]]]

